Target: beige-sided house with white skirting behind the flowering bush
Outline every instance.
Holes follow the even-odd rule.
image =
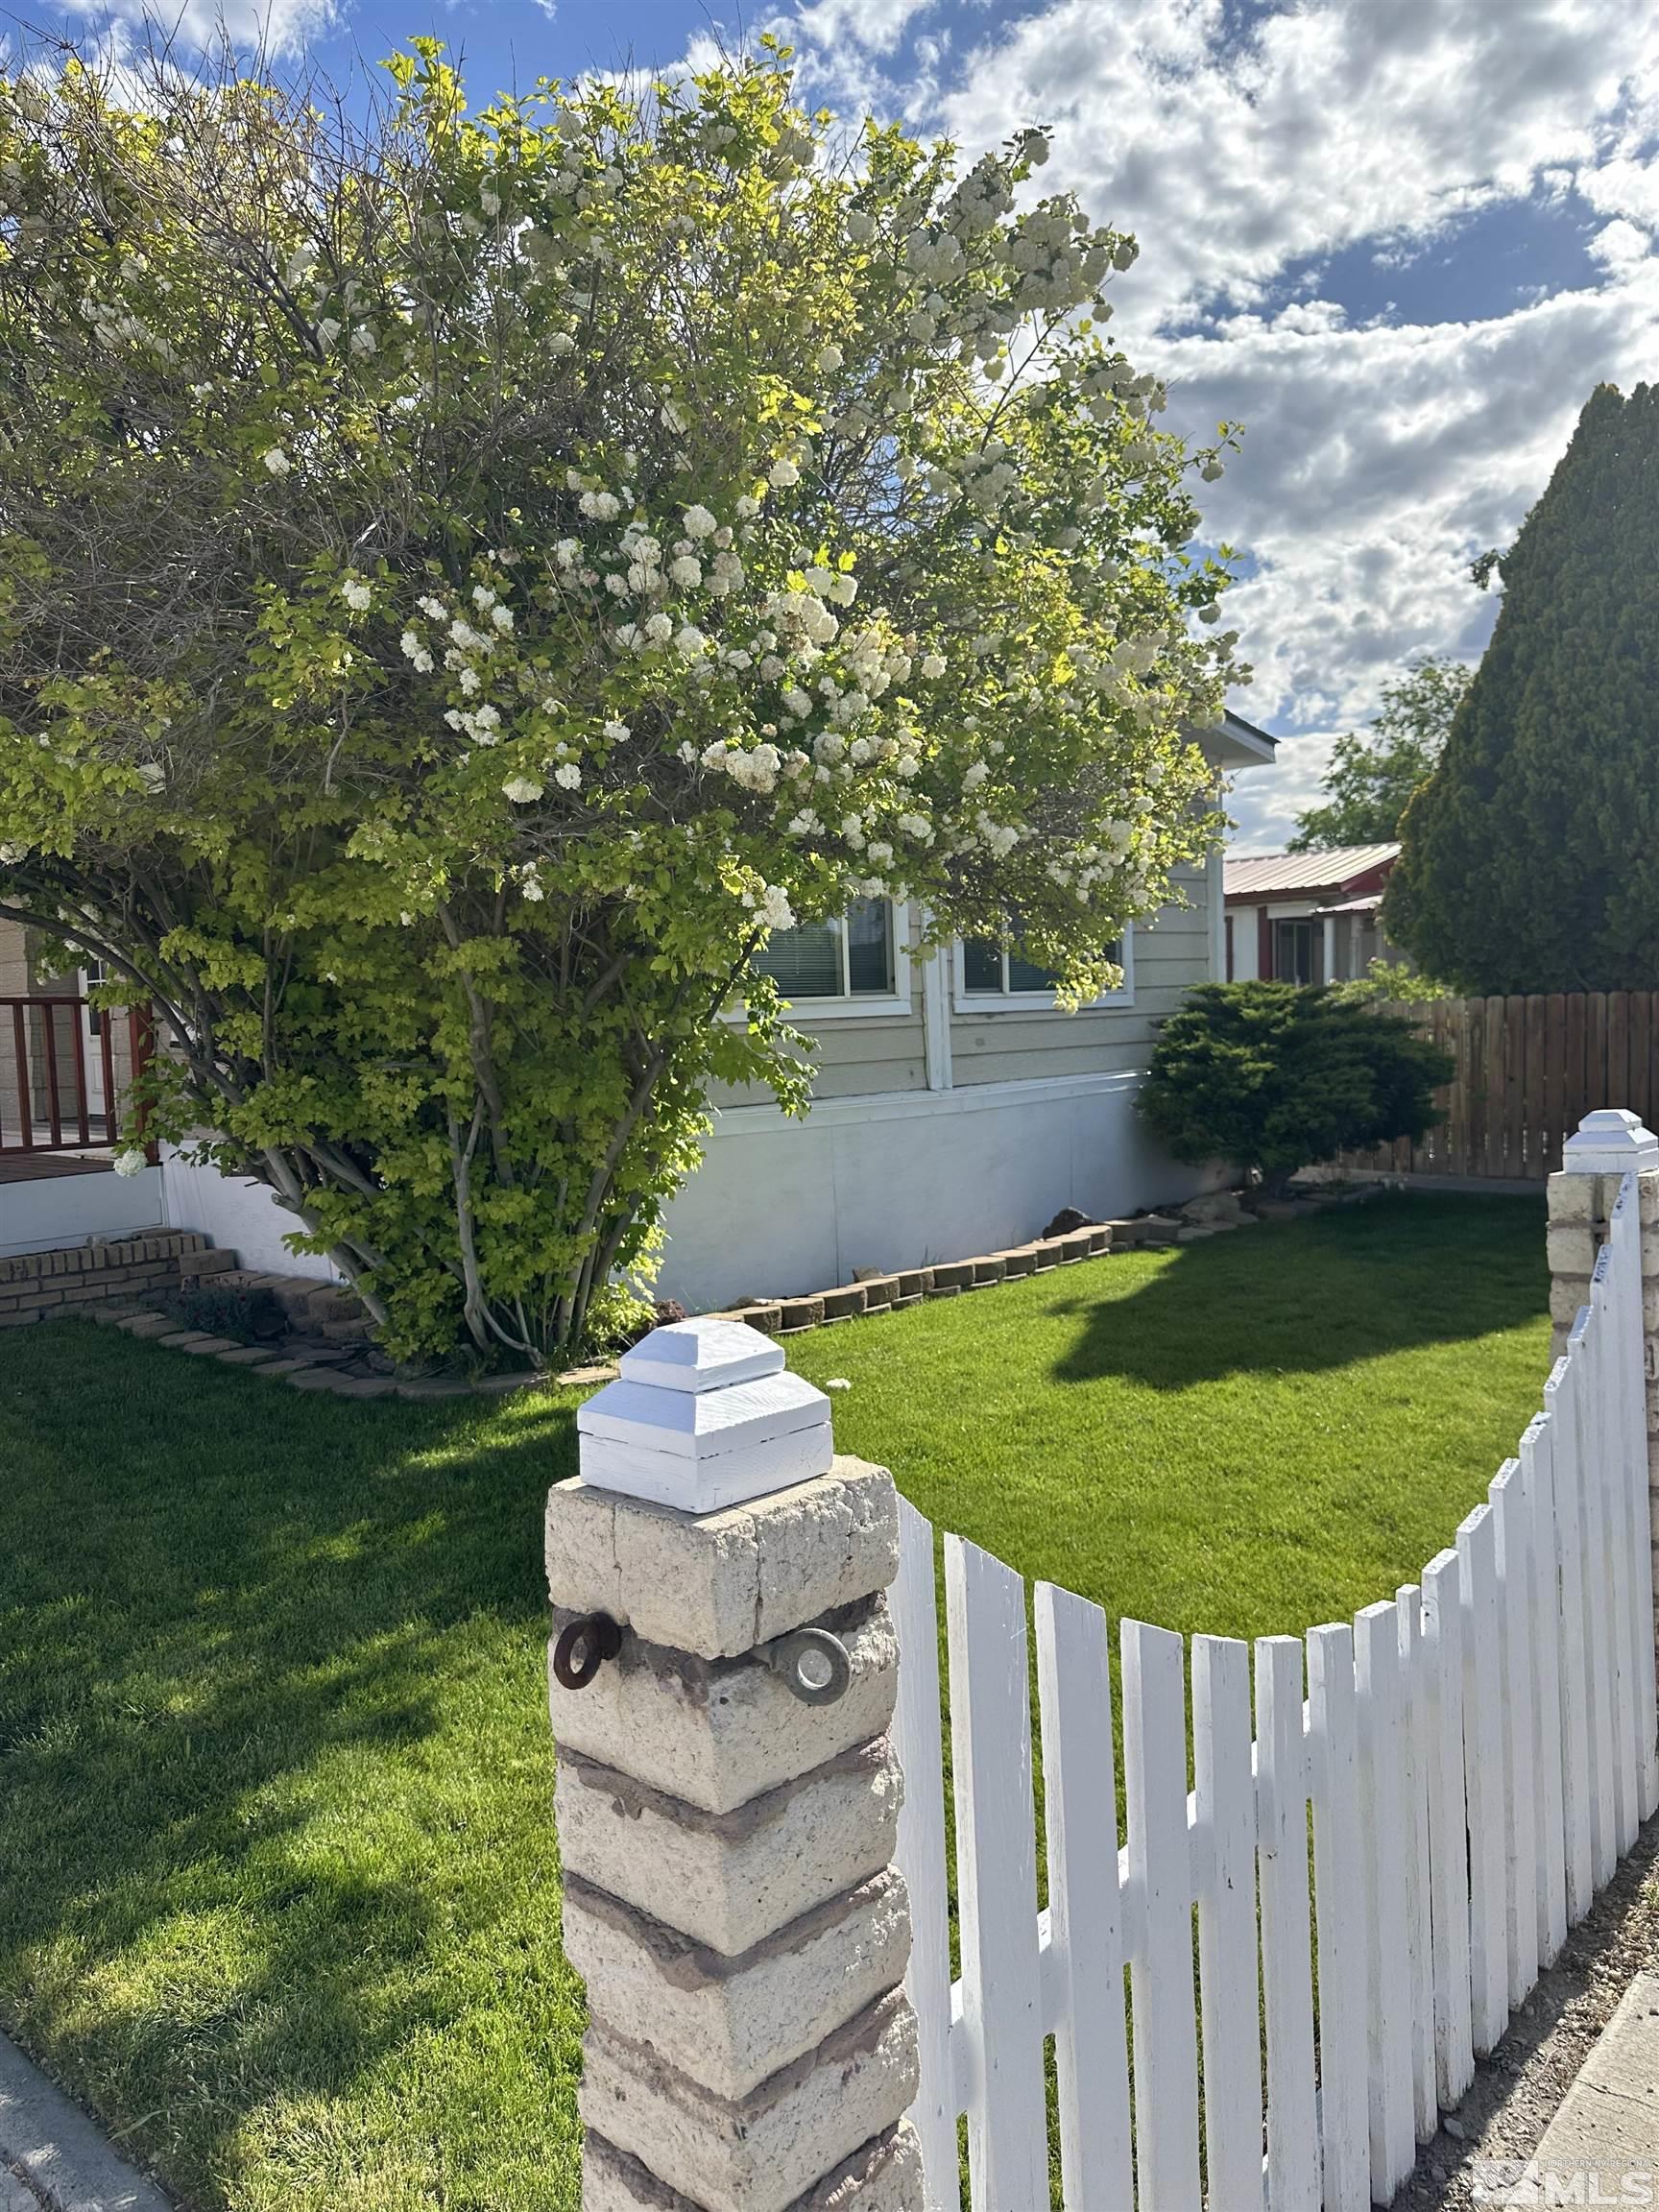
[[[1217,779],[1274,757],[1274,739],[1232,714],[1201,743]],[[1121,989],[1077,1013],[1018,953],[920,956],[900,905],[774,936],[765,967],[814,1044],[812,1113],[792,1119],[770,1093],[714,1102],[703,1164],[668,1208],[661,1296],[699,1310],[823,1290],[856,1267],[995,1252],[1062,1206],[1115,1214],[1194,1190],[1135,1115],[1159,1022],[1225,973],[1221,856],[1183,869],[1179,891],[1115,947]],[[0,958],[4,942],[0,925]],[[285,1252],[290,1217],[261,1186],[164,1159],[119,1188],[150,1177],[150,1219],[206,1230],[254,1267],[327,1272]],[[0,1188],[0,1250],[20,1241],[11,1197]]]

